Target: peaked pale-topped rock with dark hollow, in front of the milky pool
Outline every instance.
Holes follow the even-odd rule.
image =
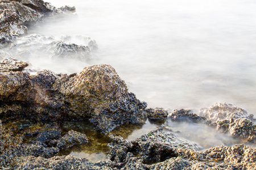
[[[172,157],[189,155],[188,153],[181,154],[181,151],[195,152],[201,148],[197,143],[179,139],[175,134],[166,134],[162,129],[142,135],[141,138],[135,139],[131,143],[138,151],[138,158],[142,158],[146,163],[163,162]]]

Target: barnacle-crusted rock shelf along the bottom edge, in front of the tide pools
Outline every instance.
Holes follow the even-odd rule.
[[[174,134],[154,130],[142,135],[134,141],[126,141],[122,137],[109,135],[109,159],[92,163],[88,159],[76,156],[53,156],[59,151],[57,147],[50,147],[49,140],[59,138],[56,125],[28,125],[11,122],[0,129],[1,142],[5,150],[1,150],[1,165],[10,163],[11,169],[253,169],[255,167],[256,149],[246,145],[217,146],[208,150],[198,151],[200,147],[191,141],[179,139]],[[0,124],[1,125],[1,124]],[[23,125],[21,134],[14,134]],[[11,128],[12,127],[12,128]],[[16,127],[16,128],[15,128]],[[44,127],[44,128],[42,128]],[[8,128],[8,129],[7,129]],[[23,143],[23,134],[38,133],[36,139]],[[1,135],[2,134],[2,135]],[[4,136],[8,135],[8,141]],[[73,134],[81,139],[83,134],[69,131],[60,137],[73,141]],[[69,136],[67,138],[67,136]],[[7,136],[6,136],[7,137]],[[53,139],[54,140],[54,139]],[[42,142],[39,142],[42,141]],[[7,143],[6,143],[7,142]],[[23,143],[23,144],[22,144]],[[48,146],[47,146],[48,143]],[[11,144],[11,145],[10,145]],[[2,147],[3,148],[3,147]],[[4,153],[3,153],[4,152]],[[136,155],[136,156],[135,156]]]

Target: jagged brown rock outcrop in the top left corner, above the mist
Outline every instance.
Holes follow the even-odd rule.
[[[27,23],[38,22],[46,14],[61,11],[42,0],[0,2],[0,42],[27,33]],[[74,11],[74,7],[63,7],[63,10]]]

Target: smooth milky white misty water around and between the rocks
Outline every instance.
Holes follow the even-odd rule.
[[[29,34],[55,39],[90,37],[98,50],[85,62],[60,62],[44,55],[26,58],[33,66],[71,74],[105,63],[114,67],[129,91],[148,107],[189,108],[198,113],[200,108],[227,102],[256,115],[255,1],[48,2],[56,7],[75,6],[76,15],[49,18],[31,27]],[[83,43],[78,39],[70,42]],[[126,138],[132,140],[157,126],[147,122]],[[166,126],[181,131],[179,137],[201,142],[203,148],[241,142],[204,125],[168,121]],[[79,156],[80,152],[70,153]]]

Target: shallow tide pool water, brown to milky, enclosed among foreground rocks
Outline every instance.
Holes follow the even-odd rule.
[[[61,128],[64,131],[63,134],[71,129],[84,133],[88,137],[89,142],[65,148],[60,151],[59,155],[76,155],[89,159],[92,162],[106,159],[110,140],[107,135],[102,135],[99,131],[94,130],[93,125],[88,120],[65,122]],[[167,120],[164,124],[148,120],[146,120],[146,124],[144,125],[124,124],[115,128],[112,133],[120,135],[128,141],[133,141],[141,137],[141,135],[148,134],[151,130],[158,128],[163,128],[166,133],[175,133],[181,139],[196,142],[203,149],[220,145],[230,146],[245,142],[243,139],[230,137],[228,134],[220,133],[216,129],[204,124],[185,121],[174,122],[171,120]]]

